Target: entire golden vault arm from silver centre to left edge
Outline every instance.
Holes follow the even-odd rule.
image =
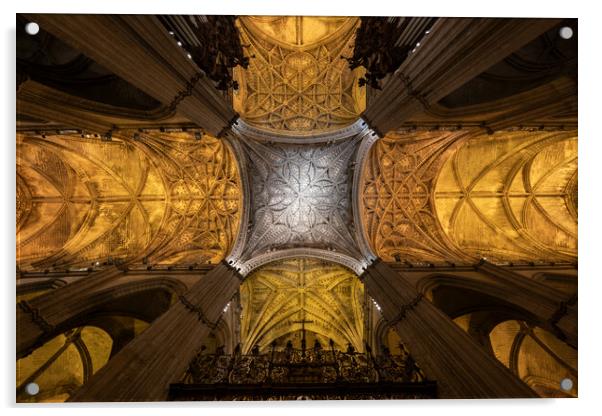
[[[233,154],[206,135],[18,135],[17,263],[217,263],[238,231],[240,186]]]

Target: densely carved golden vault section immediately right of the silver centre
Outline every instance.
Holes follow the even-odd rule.
[[[368,154],[359,183],[359,210],[374,253],[385,261],[461,259],[438,225],[436,175],[458,132],[390,134]]]

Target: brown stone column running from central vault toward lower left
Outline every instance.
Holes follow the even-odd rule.
[[[126,345],[69,401],[162,401],[234,296],[241,276],[220,263]]]

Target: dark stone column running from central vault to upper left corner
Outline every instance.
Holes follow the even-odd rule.
[[[156,16],[28,14],[28,19],[216,136],[236,118]]]

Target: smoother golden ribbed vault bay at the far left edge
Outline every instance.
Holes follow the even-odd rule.
[[[152,239],[165,202],[146,192],[156,168],[124,142],[79,136],[18,136],[17,262],[87,267],[129,257]],[[25,191],[27,189],[27,191]],[[26,218],[25,218],[26,217]]]

